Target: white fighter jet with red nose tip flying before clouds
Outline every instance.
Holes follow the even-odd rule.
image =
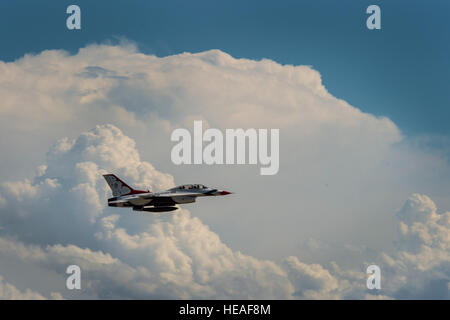
[[[178,209],[175,205],[195,202],[197,197],[231,194],[202,184],[185,184],[165,191],[150,192],[133,189],[114,174],[105,174],[103,177],[113,193],[113,197],[108,199],[108,206],[132,207],[134,211],[174,211]]]

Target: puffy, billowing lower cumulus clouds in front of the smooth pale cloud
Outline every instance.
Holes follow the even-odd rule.
[[[362,272],[343,272],[336,265],[328,270],[294,256],[276,263],[233,251],[184,209],[152,215],[106,208],[105,172],[117,172],[137,186],[173,186],[172,176],[140,160],[133,140],[113,125],[59,140],[39,171],[32,180],[1,185],[0,256],[53,271],[77,264],[87,275],[83,294],[135,299],[374,297],[364,289]],[[425,284],[421,288],[442,287],[449,276],[450,213],[439,214],[427,196],[413,195],[398,218],[399,251],[394,257],[383,255],[386,274],[392,274],[392,281],[385,282],[396,284],[389,284],[383,295],[420,295],[417,288],[409,290],[417,281]],[[42,298],[8,286],[6,297]],[[433,293],[448,298],[448,291]]]

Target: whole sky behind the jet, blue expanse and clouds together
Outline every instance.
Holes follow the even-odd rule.
[[[72,2],[1,2],[0,298],[448,299],[449,5],[421,3],[370,31],[365,1],[79,1],[69,31]],[[173,164],[194,120],[279,129],[279,172]],[[107,172],[234,194],[136,214]]]

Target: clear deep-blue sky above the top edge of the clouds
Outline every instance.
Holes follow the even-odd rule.
[[[69,4],[81,7],[81,31],[66,29]],[[365,27],[370,4],[381,30]],[[118,38],[158,56],[221,49],[312,65],[333,95],[405,133],[449,136],[449,12],[444,0],[2,1],[0,59]]]

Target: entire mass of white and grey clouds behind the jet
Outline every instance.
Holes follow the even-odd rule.
[[[448,214],[433,202],[450,204],[448,161],[334,97],[312,67],[92,45],[0,62],[0,95],[0,274],[19,292],[79,297],[64,288],[78,263],[88,298],[448,298]],[[193,120],[279,128],[279,174],[174,166],[170,133]],[[174,215],[113,210],[107,171],[239,196]],[[45,281],[24,285],[8,261]]]

